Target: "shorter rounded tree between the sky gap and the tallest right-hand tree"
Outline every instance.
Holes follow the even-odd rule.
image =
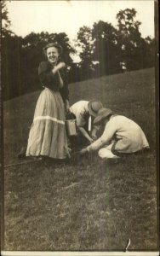
[[[83,26],[77,33],[83,79],[118,73],[117,29],[100,20],[92,28]]]

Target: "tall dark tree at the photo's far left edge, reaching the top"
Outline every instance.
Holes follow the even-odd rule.
[[[6,1],[2,9],[2,87],[3,99],[17,96],[20,92],[20,39],[10,30]]]

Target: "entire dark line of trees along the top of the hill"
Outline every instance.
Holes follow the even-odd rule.
[[[25,38],[15,35],[9,29],[5,2],[1,5],[4,100],[40,89],[37,67],[45,60],[43,47],[50,42],[63,48],[69,83],[155,65],[155,39],[141,37],[135,9],[120,10],[116,27],[103,20],[94,22],[91,28],[80,27],[73,47],[65,32],[31,32]],[[77,54],[77,49],[81,61],[75,63],[71,54]]]

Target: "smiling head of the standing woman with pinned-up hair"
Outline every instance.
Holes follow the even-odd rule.
[[[60,46],[60,44],[57,43],[50,43],[47,44],[44,48],[43,48],[44,54],[46,55],[46,57],[48,58],[48,61],[54,65],[57,63],[57,61],[60,58],[60,55],[62,53],[62,48]]]

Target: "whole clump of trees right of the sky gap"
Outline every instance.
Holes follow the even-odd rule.
[[[117,13],[117,28],[102,20],[92,28],[81,27],[77,40],[83,45],[80,56],[84,73],[93,67],[93,61],[98,63],[94,70],[97,77],[154,66],[155,42],[149,37],[141,38],[135,9]]]

